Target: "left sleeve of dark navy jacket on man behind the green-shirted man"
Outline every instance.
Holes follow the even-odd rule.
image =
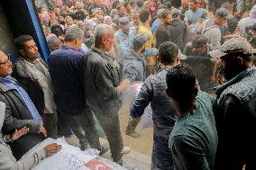
[[[152,86],[150,81],[151,76],[149,76],[145,83],[142,85],[142,89],[140,93],[137,95],[135,101],[131,105],[130,115],[133,118],[141,117],[145,108],[151,102],[151,95],[152,95]]]

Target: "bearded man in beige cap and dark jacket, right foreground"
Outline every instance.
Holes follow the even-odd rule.
[[[216,169],[256,169],[256,69],[250,43],[242,38],[226,40],[211,51],[220,58],[220,83],[215,87],[215,121],[218,132]]]

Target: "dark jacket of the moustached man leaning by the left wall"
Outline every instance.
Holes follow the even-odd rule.
[[[40,58],[41,63],[46,66],[45,62]],[[26,67],[24,58],[17,58],[13,65],[12,76],[19,82],[19,85],[29,94],[34,103],[36,109],[41,114],[44,111],[44,95],[36,77],[32,75],[29,69]]]

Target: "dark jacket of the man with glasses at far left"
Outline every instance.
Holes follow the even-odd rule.
[[[29,112],[21,95],[2,82],[0,82],[0,101],[5,103],[3,133],[12,134],[15,130],[24,126],[29,128],[28,134],[8,143],[12,148],[14,157],[20,159],[27,151],[43,140],[38,133],[40,123],[32,120],[32,114]]]

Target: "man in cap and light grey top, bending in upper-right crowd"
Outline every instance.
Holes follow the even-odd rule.
[[[224,8],[219,8],[215,12],[215,16],[211,19],[203,22],[201,28],[198,30],[202,35],[205,35],[208,39],[208,43],[211,44],[214,49],[221,47],[222,31],[220,26],[224,25],[226,20],[231,19],[233,16],[228,13]]]

